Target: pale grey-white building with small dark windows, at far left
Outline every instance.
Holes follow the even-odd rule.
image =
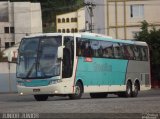
[[[40,3],[0,2],[0,51],[23,36],[42,33],[41,17]]]

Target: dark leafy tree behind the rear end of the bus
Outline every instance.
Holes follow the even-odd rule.
[[[141,30],[135,38],[138,41],[145,41],[149,45],[152,80],[160,80],[160,29],[152,26],[149,30],[149,24],[143,21]]]

